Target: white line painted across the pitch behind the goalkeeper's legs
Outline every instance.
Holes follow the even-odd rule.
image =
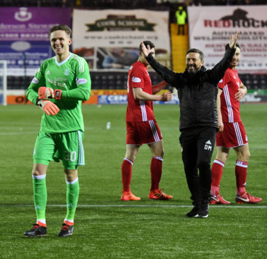
[[[30,204],[1,204],[0,207],[34,207],[34,205]],[[63,204],[50,204],[47,205],[47,207],[66,207],[66,205]],[[121,205],[77,205],[77,207],[192,207],[192,205],[127,205],[127,204],[121,204]],[[266,205],[211,205],[209,208],[212,207],[219,207],[221,209],[227,209],[227,208],[234,208],[234,209],[266,209]]]

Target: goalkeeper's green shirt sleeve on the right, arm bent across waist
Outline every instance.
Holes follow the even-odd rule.
[[[88,63],[83,58],[83,67],[76,65],[76,78],[74,84],[76,88],[69,91],[62,91],[62,100],[81,100],[86,101],[91,94],[91,78]]]

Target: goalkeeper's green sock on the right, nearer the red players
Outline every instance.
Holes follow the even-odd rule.
[[[73,182],[67,182],[67,215],[65,219],[74,219],[78,198],[79,198],[79,181],[78,178]]]

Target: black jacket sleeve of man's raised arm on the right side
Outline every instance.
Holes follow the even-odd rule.
[[[236,48],[230,49],[228,48],[225,52],[225,56],[223,56],[223,59],[217,63],[214,68],[209,70],[207,73],[207,80],[211,81],[213,84],[218,84],[218,81],[223,78],[225,75],[225,71],[229,67],[229,63],[232,61],[232,58],[234,56],[234,53],[236,52]]]

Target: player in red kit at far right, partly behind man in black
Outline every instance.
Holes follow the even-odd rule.
[[[236,65],[238,65],[241,48],[236,44],[236,52],[229,63],[225,76],[218,84],[218,126],[216,136],[217,155],[211,167],[211,204],[229,204],[220,195],[220,180],[223,175],[223,167],[227,161],[230,148],[236,151],[236,202],[259,203],[262,198],[257,198],[245,191],[247,178],[248,159],[250,150],[248,138],[241,121],[239,101],[247,93],[247,88],[238,77]]]

